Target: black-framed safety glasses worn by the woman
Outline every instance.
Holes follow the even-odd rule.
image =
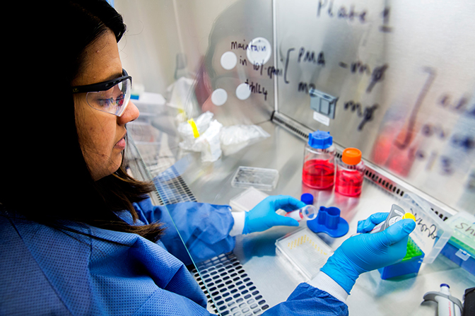
[[[86,101],[95,110],[107,112],[120,117],[129,104],[132,77],[122,69],[122,77],[93,83],[86,86],[72,87],[73,93],[87,93]]]

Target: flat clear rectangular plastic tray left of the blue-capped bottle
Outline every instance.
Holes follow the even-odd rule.
[[[271,191],[276,188],[278,171],[267,168],[253,168],[240,166],[235,172],[232,187],[254,187],[262,191]]]

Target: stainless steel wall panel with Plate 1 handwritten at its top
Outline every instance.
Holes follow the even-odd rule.
[[[475,212],[473,1],[275,0],[276,109]],[[308,90],[334,95],[317,122]]]

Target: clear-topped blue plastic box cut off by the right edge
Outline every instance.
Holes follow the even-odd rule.
[[[445,221],[453,233],[442,254],[475,275],[475,216],[460,212]]]

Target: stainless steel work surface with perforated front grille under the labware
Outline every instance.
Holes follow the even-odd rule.
[[[278,170],[277,185],[266,194],[286,194],[299,199],[301,194],[311,193],[317,208],[336,206],[341,210],[341,217],[349,224],[348,233],[341,238],[317,234],[333,250],[356,233],[358,221],[375,212],[389,211],[392,204],[397,203],[399,195],[375,185],[368,180],[368,174],[360,197],[345,197],[334,190],[320,191],[306,187],[302,183],[305,141],[270,120],[259,126],[271,136],[233,155],[222,156],[214,163],[201,163],[199,153],[180,151],[177,146],[180,140],[177,135],[170,134],[170,129],[160,131],[148,123],[136,122],[129,128],[132,139],[130,155],[136,163],[131,164],[131,171],[150,179],[163,179],[169,175],[166,181],[156,181],[157,192],[153,197],[156,203],[199,201],[228,205],[230,199],[244,191],[231,185],[233,175],[240,166]],[[170,180],[175,186],[171,189]],[[176,192],[179,192],[180,197],[177,197]],[[299,227],[274,227],[262,233],[238,235],[232,253],[197,264],[195,279],[212,300],[213,306],[209,310],[219,310],[221,315],[235,315],[238,312],[240,315],[259,315],[286,300],[305,278],[276,255],[276,240],[305,226],[305,221],[302,221]],[[210,271],[228,279],[221,282],[221,288],[231,287],[233,290],[218,291],[219,288],[215,286],[217,283],[211,282]],[[433,263],[422,264],[417,276],[383,280],[377,270],[360,275],[347,304],[353,316],[432,316],[436,313],[437,304],[423,303],[423,295],[429,291],[439,291],[440,283],[449,284],[452,295],[462,300],[464,290],[475,285],[475,276],[440,254]],[[222,293],[228,293],[228,297]],[[238,308],[241,302],[247,302],[249,306],[242,310]]]

